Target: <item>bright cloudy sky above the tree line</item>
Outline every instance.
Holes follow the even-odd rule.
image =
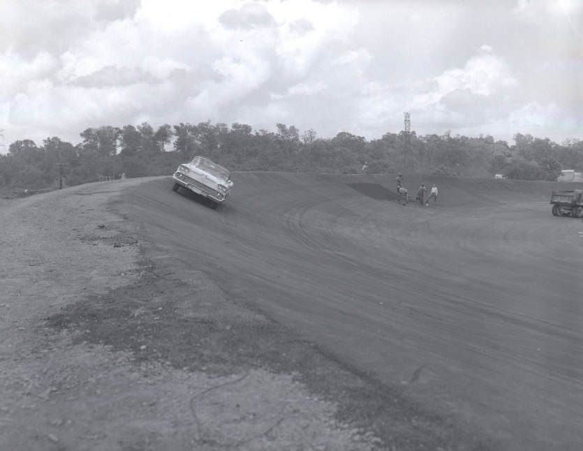
[[[3,0],[0,69],[6,147],[207,119],[371,139],[405,111],[583,139],[582,0]]]

